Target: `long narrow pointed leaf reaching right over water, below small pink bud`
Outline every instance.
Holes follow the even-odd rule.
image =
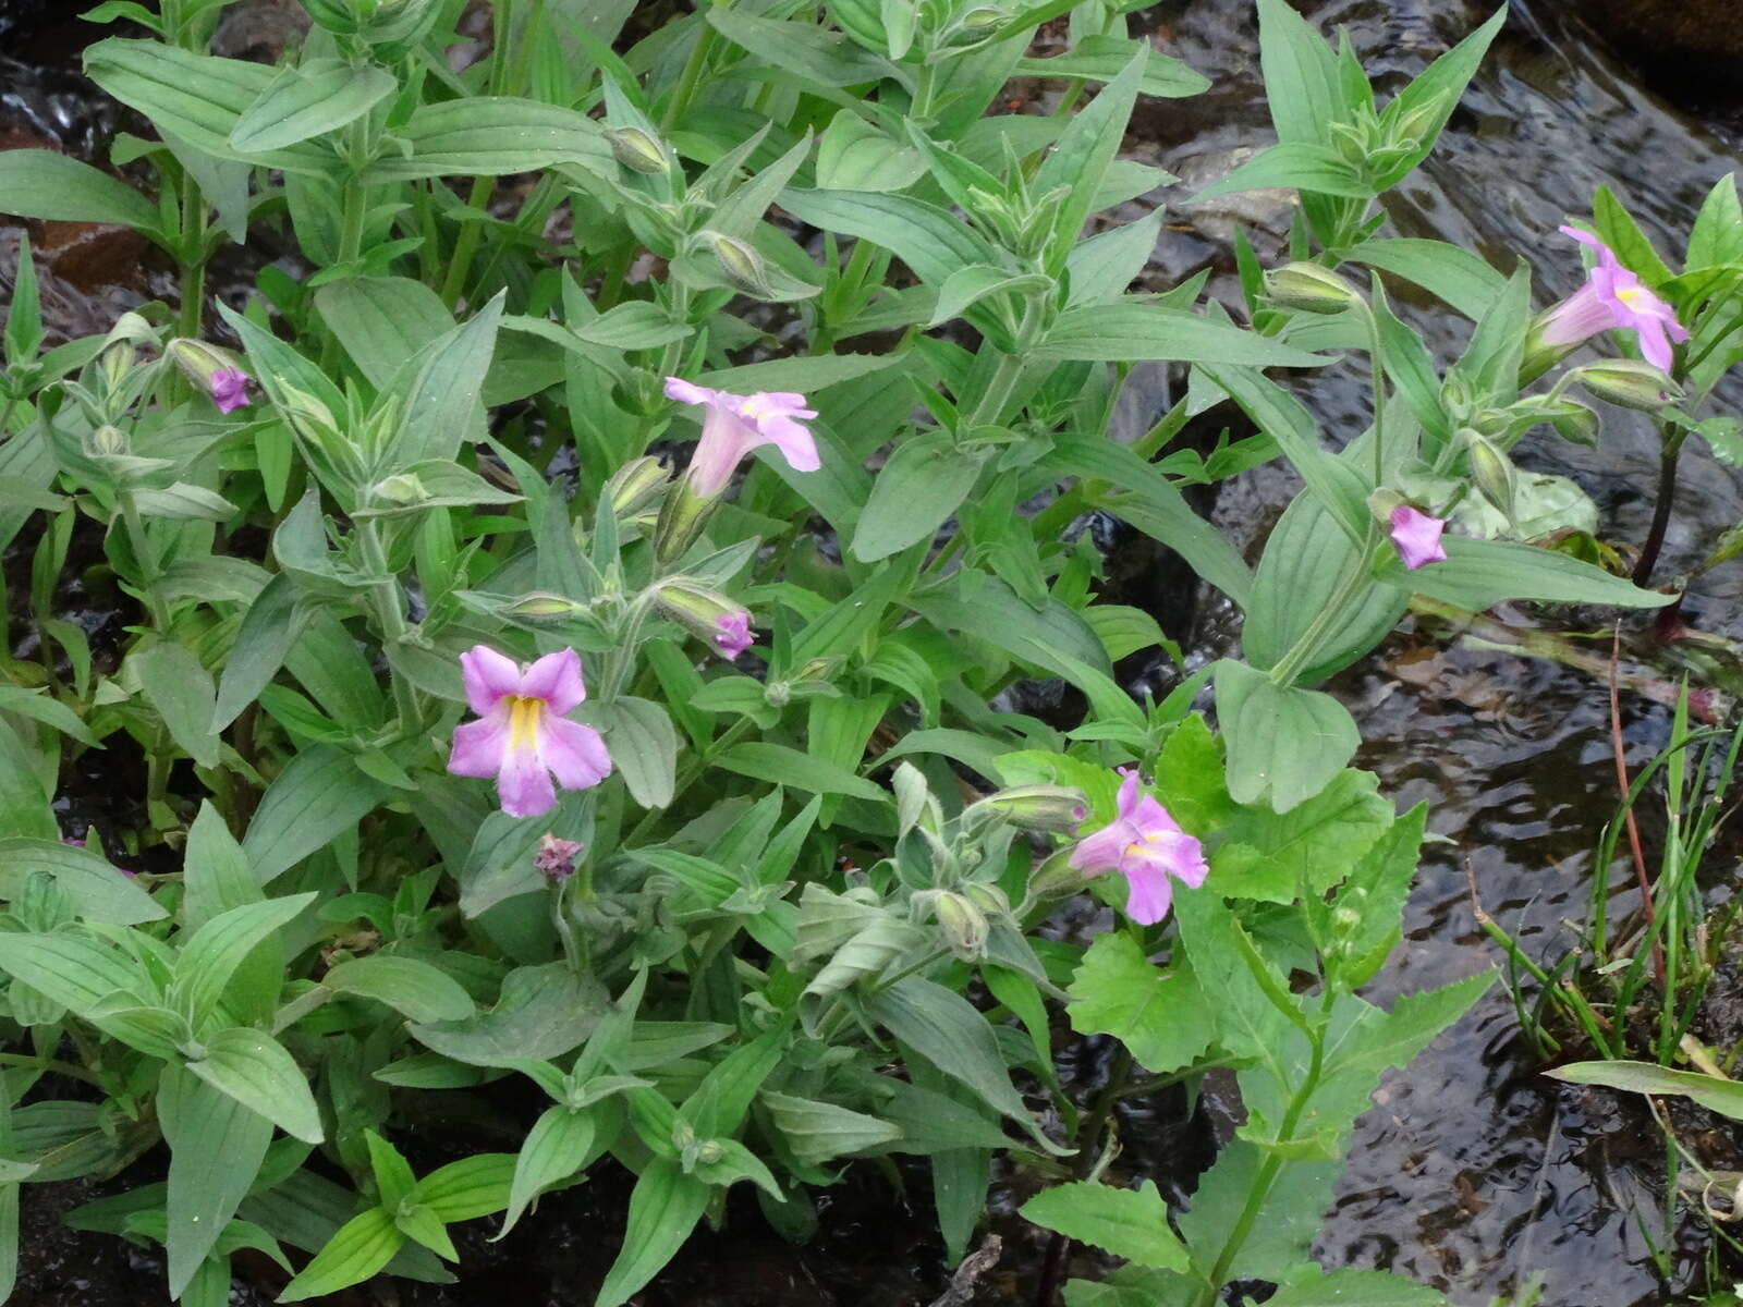
[[[1429,563],[1407,572],[1393,556],[1382,563],[1380,580],[1478,612],[1502,599],[1659,608],[1675,598],[1640,589],[1624,577],[1612,577],[1591,563],[1581,563],[1553,549],[1464,537],[1447,537],[1443,544],[1445,563]]]

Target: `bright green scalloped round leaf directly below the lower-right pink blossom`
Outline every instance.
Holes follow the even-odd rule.
[[[1065,1011],[1079,1035],[1114,1035],[1156,1075],[1192,1065],[1217,1033],[1192,972],[1156,967],[1124,931],[1096,936],[1084,951]]]

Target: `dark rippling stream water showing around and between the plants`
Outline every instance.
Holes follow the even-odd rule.
[[[1558,0],[1515,0],[1511,19],[1429,162],[1389,197],[1405,235],[1443,237],[1483,253],[1501,268],[1527,256],[1541,303],[1579,281],[1579,260],[1556,225],[1588,211],[1595,186],[1609,185],[1659,240],[1675,249],[1694,211],[1736,166],[1736,138],[1726,87],[1703,85],[1705,103],[1670,106],[1570,21]],[[1577,5],[1572,5],[1577,9]],[[1401,77],[1469,31],[1483,16],[1464,0],[1307,0],[1325,30],[1347,24],[1363,63],[1391,91]],[[1190,190],[1265,145],[1269,119],[1258,84],[1257,26],[1246,0],[1170,0],[1140,10],[1157,44],[1203,70],[1215,89],[1194,101],[1140,106],[1128,152],[1159,162],[1187,185],[1128,206],[1122,220],[1154,202],[1171,207],[1150,277],[1168,286],[1201,267],[1215,270],[1211,291],[1238,298],[1229,235],[1241,221],[1260,256],[1281,249],[1288,214],[1264,195],[1232,197],[1215,211],[1183,206]],[[54,5],[0,0],[0,145],[59,143],[92,155],[115,115],[77,78],[70,37]],[[1679,89],[1680,91],[1680,89]],[[1046,110],[1037,89],[1035,110]],[[42,232],[38,230],[38,237]],[[52,234],[51,234],[52,235]],[[49,314],[68,335],[101,329],[117,307],[164,293],[160,274],[124,256],[115,234],[59,234],[98,253],[51,260]],[[40,240],[38,240],[40,242]],[[119,244],[117,244],[119,242]],[[73,242],[77,244],[77,242]],[[0,228],[0,291],[16,249],[16,228]],[[1441,364],[1455,357],[1462,335],[1431,301],[1412,301]],[[1121,420],[1133,434],[1166,408],[1178,383],[1166,369],[1138,369]],[[1333,369],[1307,390],[1328,437],[1354,434],[1368,422],[1363,378]],[[1743,411],[1743,387],[1727,392]],[[1595,498],[1611,538],[1637,542],[1651,516],[1658,467],[1656,437],[1640,420],[1605,413],[1597,450],[1534,441],[1518,458],[1532,471],[1572,476]],[[1661,575],[1701,556],[1703,542],[1743,519],[1736,474],[1689,450],[1677,493]],[[1293,486],[1260,472],[1225,488],[1208,511],[1238,538],[1258,542]],[[1238,640],[1238,620],[1210,598],[1189,603],[1177,572],[1154,568],[1142,542],[1122,545],[1114,570],[1138,577],[1150,603],[1201,660]],[[7,559],[16,579],[23,559]],[[1156,579],[1170,579],[1159,584]],[[1685,620],[1726,638],[1743,638],[1738,593],[1743,563],[1705,577],[1685,605]],[[103,613],[73,613],[87,620]],[[1150,669],[1136,683],[1154,680]],[[1591,849],[1611,816],[1609,711],[1602,681],[1556,664],[1532,660],[1461,638],[1428,620],[1407,622],[1368,664],[1342,674],[1333,688],[1361,721],[1361,765],[1382,777],[1400,803],[1428,802],[1431,830],[1448,843],[1428,850],[1410,897],[1405,943],[1373,985],[1373,997],[1443,985],[1495,965],[1497,953],[1478,931],[1466,864],[1483,904],[1539,957],[1574,941],[1583,917]],[[1624,695],[1628,760],[1638,767],[1668,735],[1668,711],[1645,695]],[[1651,840],[1651,830],[1647,831]],[[1736,864],[1722,849],[1713,864]],[[1614,878],[1624,868],[1611,868]],[[1722,887],[1717,892],[1724,892]],[[1067,1054],[1079,1082],[1093,1082],[1102,1051]],[[1208,1096],[1213,1098],[1213,1096]],[[1204,1164],[1203,1124],[1180,1122],[1180,1103],[1136,1103],[1122,1117],[1122,1164],[1170,1182]],[[1712,1147],[1729,1147],[1717,1138]],[[493,1145],[495,1147],[495,1145]],[[1733,1162],[1734,1164],[1734,1162]],[[1349,1171],[1319,1243],[1333,1267],[1386,1267],[1441,1288],[1457,1307],[1482,1307],[1509,1295],[1534,1274],[1546,1281],[1546,1307],[1645,1307],[1703,1286],[1698,1230],[1684,1229],[1661,1249],[1661,1277],[1651,1237],[1659,1237],[1658,1188],[1663,1143],[1633,1103],[1556,1086],[1537,1073],[1518,1037],[1513,1007],[1497,988],[1403,1073],[1382,1084],[1356,1131]],[[831,1192],[823,1236],[795,1249],[734,1208],[725,1236],[699,1239],[661,1279],[648,1304],[718,1307],[838,1304],[889,1307],[926,1304],[945,1272],[927,1237],[926,1187],[908,1176],[915,1209],[889,1206],[889,1190],[849,1185]],[[1021,1194],[1013,1178],[999,1208],[1009,1215]],[[71,1194],[42,1194],[26,1213],[26,1267],[19,1302],[30,1307],[139,1302],[139,1276],[155,1262],[115,1241],[56,1232],[51,1208]],[[464,1244],[467,1279],[448,1291],[424,1286],[347,1295],[347,1302],[478,1304],[507,1295],[530,1304],[586,1304],[600,1274],[600,1248],[615,1244],[621,1194],[612,1180],[546,1211],[504,1244]],[[1006,1260],[988,1274],[981,1300],[1028,1302],[1041,1243],[1021,1222],[1000,1218]],[[1088,1263],[1082,1263],[1088,1265]],[[239,1283],[237,1302],[256,1298]],[[267,1295],[270,1297],[270,1295]]]

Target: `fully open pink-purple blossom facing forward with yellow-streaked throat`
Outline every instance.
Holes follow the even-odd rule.
[[[448,770],[497,777],[502,810],[511,817],[549,812],[556,803],[553,775],[565,789],[587,789],[612,774],[600,732],[565,716],[587,697],[575,650],[546,654],[523,669],[474,645],[460,655],[460,671],[478,721],[455,728]]]

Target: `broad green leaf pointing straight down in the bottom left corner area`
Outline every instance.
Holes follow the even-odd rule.
[[[157,1121],[169,1145],[169,1295],[180,1297],[248,1197],[272,1124],[176,1065],[159,1077]]]

